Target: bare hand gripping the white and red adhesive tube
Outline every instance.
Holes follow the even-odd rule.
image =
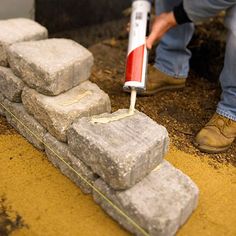
[[[152,45],[158,41],[170,28],[177,25],[173,12],[162,13],[155,17],[152,24],[151,34],[148,36],[146,45],[148,49],[152,48]]]

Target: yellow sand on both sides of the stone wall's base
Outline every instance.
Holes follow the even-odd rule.
[[[167,160],[201,191],[197,210],[178,235],[236,235],[236,169],[174,147]],[[18,134],[0,134],[0,195],[27,225],[15,236],[129,235]]]

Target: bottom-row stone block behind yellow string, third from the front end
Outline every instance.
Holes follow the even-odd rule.
[[[42,143],[43,137],[46,134],[44,129],[32,116],[30,116],[24,109],[21,103],[12,103],[7,99],[4,100],[4,106],[15,116],[17,119],[6,112],[8,123],[10,123],[22,136],[24,136],[36,148],[44,150]],[[22,123],[27,126],[24,127]],[[33,134],[30,131],[33,132]],[[37,139],[35,135],[40,139]]]

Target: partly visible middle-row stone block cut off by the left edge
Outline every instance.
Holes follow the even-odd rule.
[[[0,66],[0,92],[11,102],[21,102],[25,83],[11,69]]]

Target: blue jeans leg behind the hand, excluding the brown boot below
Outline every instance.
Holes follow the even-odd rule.
[[[173,10],[181,0],[156,0],[156,14]],[[186,78],[191,52],[187,49],[194,32],[194,25],[186,23],[166,33],[156,48],[154,66],[167,75]]]

